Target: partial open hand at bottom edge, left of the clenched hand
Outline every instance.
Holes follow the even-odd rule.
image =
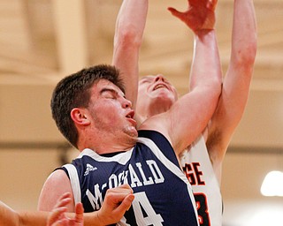
[[[65,193],[53,208],[48,218],[47,226],[83,226],[83,207],[81,203],[76,205],[74,218],[65,215],[67,204],[71,202],[71,194]]]

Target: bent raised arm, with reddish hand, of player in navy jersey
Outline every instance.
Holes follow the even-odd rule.
[[[159,126],[159,132],[168,132],[164,135],[171,139],[177,152],[183,151],[193,142],[209,123],[217,106],[222,82],[218,44],[213,30],[217,1],[202,0],[198,2],[197,7],[195,1],[190,0],[188,3],[190,5],[185,12],[172,8],[170,11],[195,33],[191,91],[173,104],[168,113],[156,117],[157,120],[153,122],[150,120],[152,124]],[[160,123],[159,120],[164,122]]]

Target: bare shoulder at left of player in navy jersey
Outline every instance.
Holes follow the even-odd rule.
[[[57,169],[50,174],[45,181],[38,201],[38,210],[51,211],[57,200],[65,193],[70,192],[73,199],[73,190],[66,173],[62,169]],[[68,211],[74,211],[74,203],[68,205]]]

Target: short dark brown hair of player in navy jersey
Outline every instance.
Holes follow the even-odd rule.
[[[74,147],[77,147],[78,132],[71,111],[73,108],[88,108],[89,88],[100,79],[107,79],[125,91],[119,70],[108,64],[98,64],[73,73],[61,79],[53,91],[50,102],[52,117],[59,131]]]

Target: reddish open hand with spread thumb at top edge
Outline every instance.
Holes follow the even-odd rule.
[[[172,7],[169,7],[168,10],[194,32],[214,29],[215,8],[218,0],[188,0],[187,3],[187,11],[177,11]]]

